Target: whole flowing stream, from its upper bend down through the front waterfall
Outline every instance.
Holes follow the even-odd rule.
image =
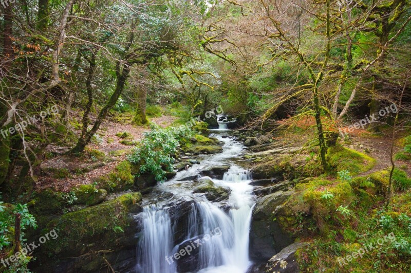
[[[193,257],[185,255],[185,259],[194,260],[191,264],[195,270],[192,271],[247,272],[251,265],[249,230],[255,204],[251,193],[253,187],[249,185],[251,174],[236,163],[244,153],[244,146],[229,137],[224,129],[215,130],[213,134],[224,142],[222,153],[200,156],[200,164],[178,172],[145,197],[143,212],[138,215],[142,223],[142,239],[137,251],[137,272],[178,272],[181,261],[173,260],[172,256],[179,252],[180,244],[185,242],[184,249],[188,250],[188,245],[195,248],[196,241],[202,244],[197,244],[196,250],[191,252]],[[193,194],[198,183],[193,181],[193,176],[204,168],[220,165],[229,165],[230,169],[222,179],[212,180],[217,186],[231,189],[228,201],[212,203],[201,194]],[[176,202],[188,204],[185,206],[188,216],[183,218],[182,224],[173,222],[174,216],[171,216],[183,213],[173,206]],[[177,241],[176,237],[179,238]]]

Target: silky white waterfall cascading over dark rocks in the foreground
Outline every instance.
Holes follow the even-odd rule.
[[[229,138],[219,138],[225,141],[223,153],[208,155],[201,164],[216,165],[216,163],[231,162],[230,158],[238,156],[242,151],[242,144]],[[212,179],[214,184],[231,189],[227,206],[212,203],[205,197],[191,195],[185,191],[181,181],[169,181],[169,185],[161,185],[161,190],[170,188],[175,195],[180,193],[185,198],[192,199],[189,205],[189,215],[186,221],[186,231],[182,242],[174,242],[173,224],[166,209],[150,205],[144,207],[142,214],[143,231],[138,256],[141,263],[136,267],[137,272],[144,273],[174,273],[177,272],[177,263],[167,263],[165,257],[177,253],[179,244],[200,240],[196,259],[195,272],[208,273],[240,273],[247,272],[251,266],[249,259],[249,231],[252,210],[255,204],[252,195],[251,173],[231,162],[231,168],[221,180]],[[198,166],[198,169],[201,167]],[[191,170],[193,172],[194,170]],[[191,181],[186,182],[190,189]],[[176,186],[178,185],[178,187]],[[175,188],[173,188],[176,186]],[[172,190],[171,190],[172,188]],[[167,204],[163,204],[167,206]],[[167,206],[173,210],[172,206]],[[224,209],[226,208],[226,209]],[[180,223],[181,224],[181,223]],[[218,232],[216,232],[218,230]],[[206,240],[208,239],[208,240]],[[176,245],[175,245],[176,244]],[[194,255],[194,254],[193,254]],[[192,259],[193,257],[190,257]]]

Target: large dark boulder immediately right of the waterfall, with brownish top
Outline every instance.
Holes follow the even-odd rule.
[[[293,193],[292,190],[278,191],[257,199],[250,229],[250,258],[255,262],[267,261],[293,242],[278,221],[273,221],[276,207]]]

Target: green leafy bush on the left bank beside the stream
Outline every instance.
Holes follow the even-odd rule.
[[[162,181],[166,171],[173,171],[173,156],[180,143],[195,135],[186,126],[162,129],[157,124],[151,124],[150,132],[144,133],[144,138],[127,156],[128,161],[138,166],[138,175],[152,173],[156,180]]]

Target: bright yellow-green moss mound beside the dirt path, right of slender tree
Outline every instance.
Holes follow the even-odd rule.
[[[330,148],[327,160],[335,172],[348,170],[351,175],[371,170],[376,163],[372,157],[344,147]]]

